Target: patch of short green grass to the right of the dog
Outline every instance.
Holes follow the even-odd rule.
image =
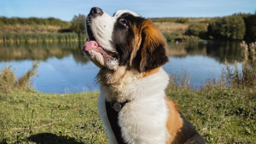
[[[207,143],[256,142],[255,89],[168,89]]]

